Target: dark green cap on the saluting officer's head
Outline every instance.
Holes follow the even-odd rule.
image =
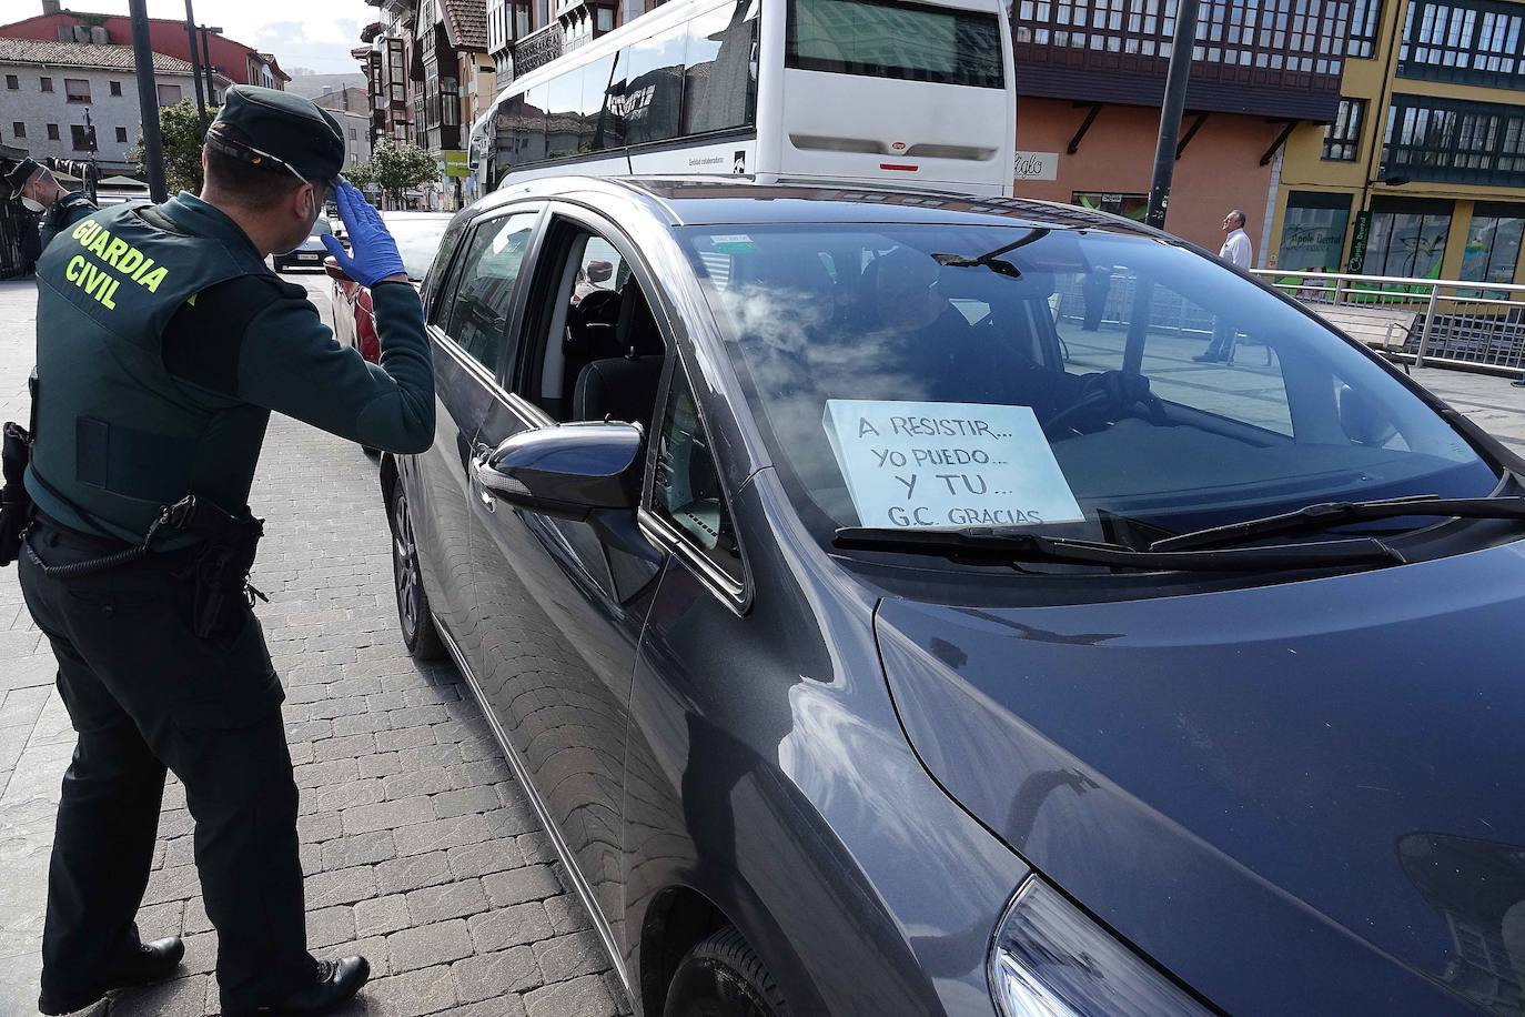
[[[235,128],[227,133],[221,128]],[[345,168],[345,131],[328,110],[290,91],[233,85],[206,143],[233,159],[332,183]]]

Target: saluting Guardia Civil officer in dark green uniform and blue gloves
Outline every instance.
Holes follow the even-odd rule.
[[[435,433],[418,294],[343,160],[326,111],[239,85],[207,134],[200,197],[93,210],[27,184],[49,242],[18,563],[79,736],[49,872],[44,1014],[180,962],[177,938],[143,942],[134,924],[166,767],[195,820],[223,1012],[323,1014],[369,977],[363,958],[307,951],[284,694],[244,596],[259,535],[246,502],[271,410],[396,453]],[[372,287],[380,366],[264,264],[336,189],[352,253],[325,239]]]

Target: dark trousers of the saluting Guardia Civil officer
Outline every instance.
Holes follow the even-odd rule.
[[[111,550],[43,520],[29,540],[49,566]],[[223,1006],[279,999],[314,962],[284,695],[253,611],[221,643],[198,639],[189,584],[174,575],[183,555],[72,579],[46,576],[24,549],[18,566],[78,732],[47,878],[43,985],[90,983],[136,945],[168,767],[195,820]]]

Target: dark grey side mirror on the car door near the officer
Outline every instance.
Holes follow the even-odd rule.
[[[636,508],[644,447],[639,424],[561,424],[514,435],[476,460],[476,476],[509,505],[586,520],[599,509]]]

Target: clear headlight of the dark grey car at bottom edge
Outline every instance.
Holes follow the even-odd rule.
[[[1002,1017],[1206,1017],[1052,886],[1029,875],[996,929],[990,993]]]

